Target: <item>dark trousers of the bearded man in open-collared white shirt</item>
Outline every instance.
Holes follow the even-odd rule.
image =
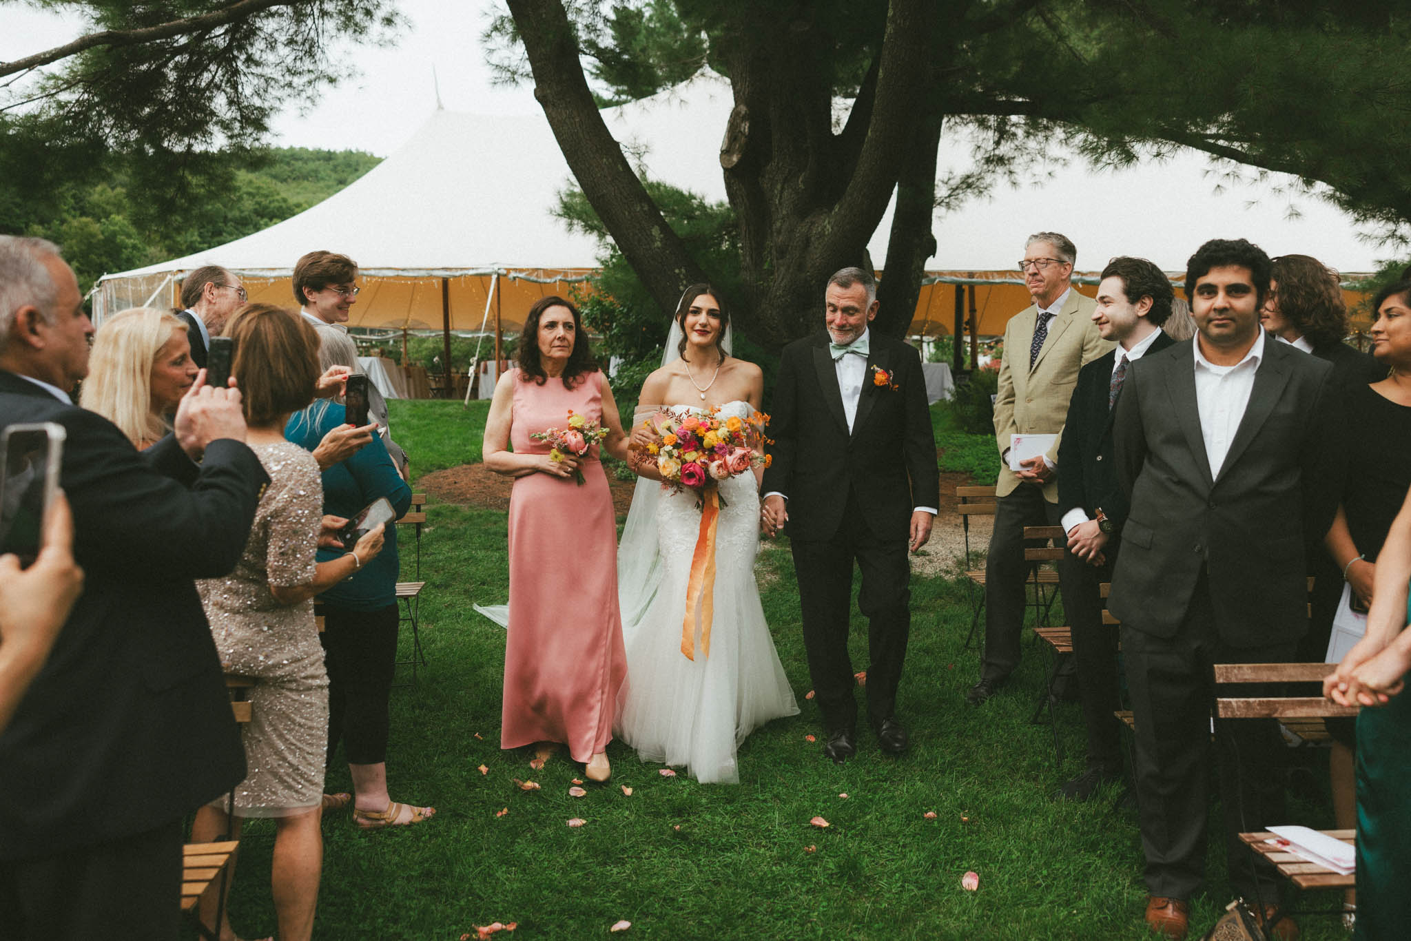
[[[1237,648],[1215,629],[1209,584],[1202,577],[1175,636],[1157,638],[1122,626],[1122,656],[1136,722],[1136,777],[1141,804],[1141,849],[1153,896],[1189,899],[1205,868],[1206,782],[1216,663],[1281,663],[1294,642]],[[1237,684],[1222,696],[1247,694]],[[1277,897],[1271,869],[1257,866],[1240,831],[1284,818],[1280,769],[1284,748],[1273,720],[1216,720],[1221,803],[1230,886],[1253,903]],[[1256,879],[1259,882],[1256,893]]]

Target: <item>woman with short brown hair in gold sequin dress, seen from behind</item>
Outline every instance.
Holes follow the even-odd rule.
[[[353,552],[315,560],[323,487],[313,456],[284,437],[292,412],[305,408],[319,380],[313,329],[271,305],[247,305],[226,326],[236,340],[231,372],[243,395],[247,443],[270,474],[236,570],[199,581],[206,617],[227,673],[257,680],[244,728],[247,777],[234,791],[234,820],[224,801],[203,807],[195,841],[238,832],[246,817],[275,821],[271,885],[281,941],[306,941],[323,868],[319,830],[327,746],[329,680],[313,622],[312,598],[350,577],[382,547],[382,528]],[[206,924],[212,910],[203,910]],[[223,928],[223,938],[234,938]]]

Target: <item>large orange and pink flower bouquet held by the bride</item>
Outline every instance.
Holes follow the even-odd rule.
[[[718,408],[706,413],[665,411],[645,422],[655,440],[634,442],[629,449],[635,451],[635,463],[653,463],[662,481],[676,492],[694,490],[700,506],[707,491],[718,490],[720,481],[769,466],[769,459],[753,450],[755,442],[765,440],[769,416],[761,412],[748,419],[735,415],[722,419]]]

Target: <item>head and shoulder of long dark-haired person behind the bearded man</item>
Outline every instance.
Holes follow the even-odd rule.
[[[1280,255],[1268,279],[1260,322],[1276,337],[1332,363],[1333,378],[1366,385],[1387,377],[1387,367],[1343,343],[1348,305],[1338,272],[1309,255]]]

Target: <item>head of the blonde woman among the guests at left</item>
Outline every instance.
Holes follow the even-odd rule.
[[[147,449],[169,430],[181,398],[196,381],[186,324],[154,308],[131,308],[103,322],[93,337],[79,405],[117,425]]]

